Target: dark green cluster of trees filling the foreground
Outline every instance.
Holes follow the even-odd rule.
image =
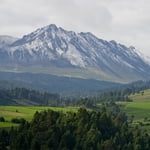
[[[31,123],[1,131],[0,139],[4,150],[6,146],[11,150],[150,149],[148,134],[130,129],[125,114],[109,114],[105,109],[95,112],[81,108],[77,113],[65,114],[36,112]]]

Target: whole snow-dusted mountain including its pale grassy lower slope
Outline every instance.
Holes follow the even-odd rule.
[[[54,24],[4,44],[0,70],[115,82],[150,79],[150,65],[134,47]]]

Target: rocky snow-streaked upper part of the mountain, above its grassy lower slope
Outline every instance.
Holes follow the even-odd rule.
[[[149,64],[134,47],[102,40],[90,32],[67,31],[54,24],[23,36],[3,49],[4,53],[9,61],[19,64],[93,68],[104,76],[118,78],[124,78],[127,72],[141,77],[150,75]]]

